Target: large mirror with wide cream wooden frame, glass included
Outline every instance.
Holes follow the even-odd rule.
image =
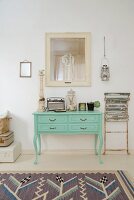
[[[90,33],[46,33],[46,86],[91,84]]]

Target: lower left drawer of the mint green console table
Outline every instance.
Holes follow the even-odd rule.
[[[39,132],[67,132],[66,124],[38,124]]]

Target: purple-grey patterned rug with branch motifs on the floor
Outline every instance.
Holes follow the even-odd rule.
[[[134,200],[123,171],[0,173],[0,200]]]

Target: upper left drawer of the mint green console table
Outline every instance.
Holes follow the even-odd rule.
[[[55,116],[55,115],[47,115],[47,116],[38,116],[38,123],[39,124],[46,124],[46,123],[52,123],[52,124],[59,124],[59,123],[66,123],[67,122],[67,116]]]

